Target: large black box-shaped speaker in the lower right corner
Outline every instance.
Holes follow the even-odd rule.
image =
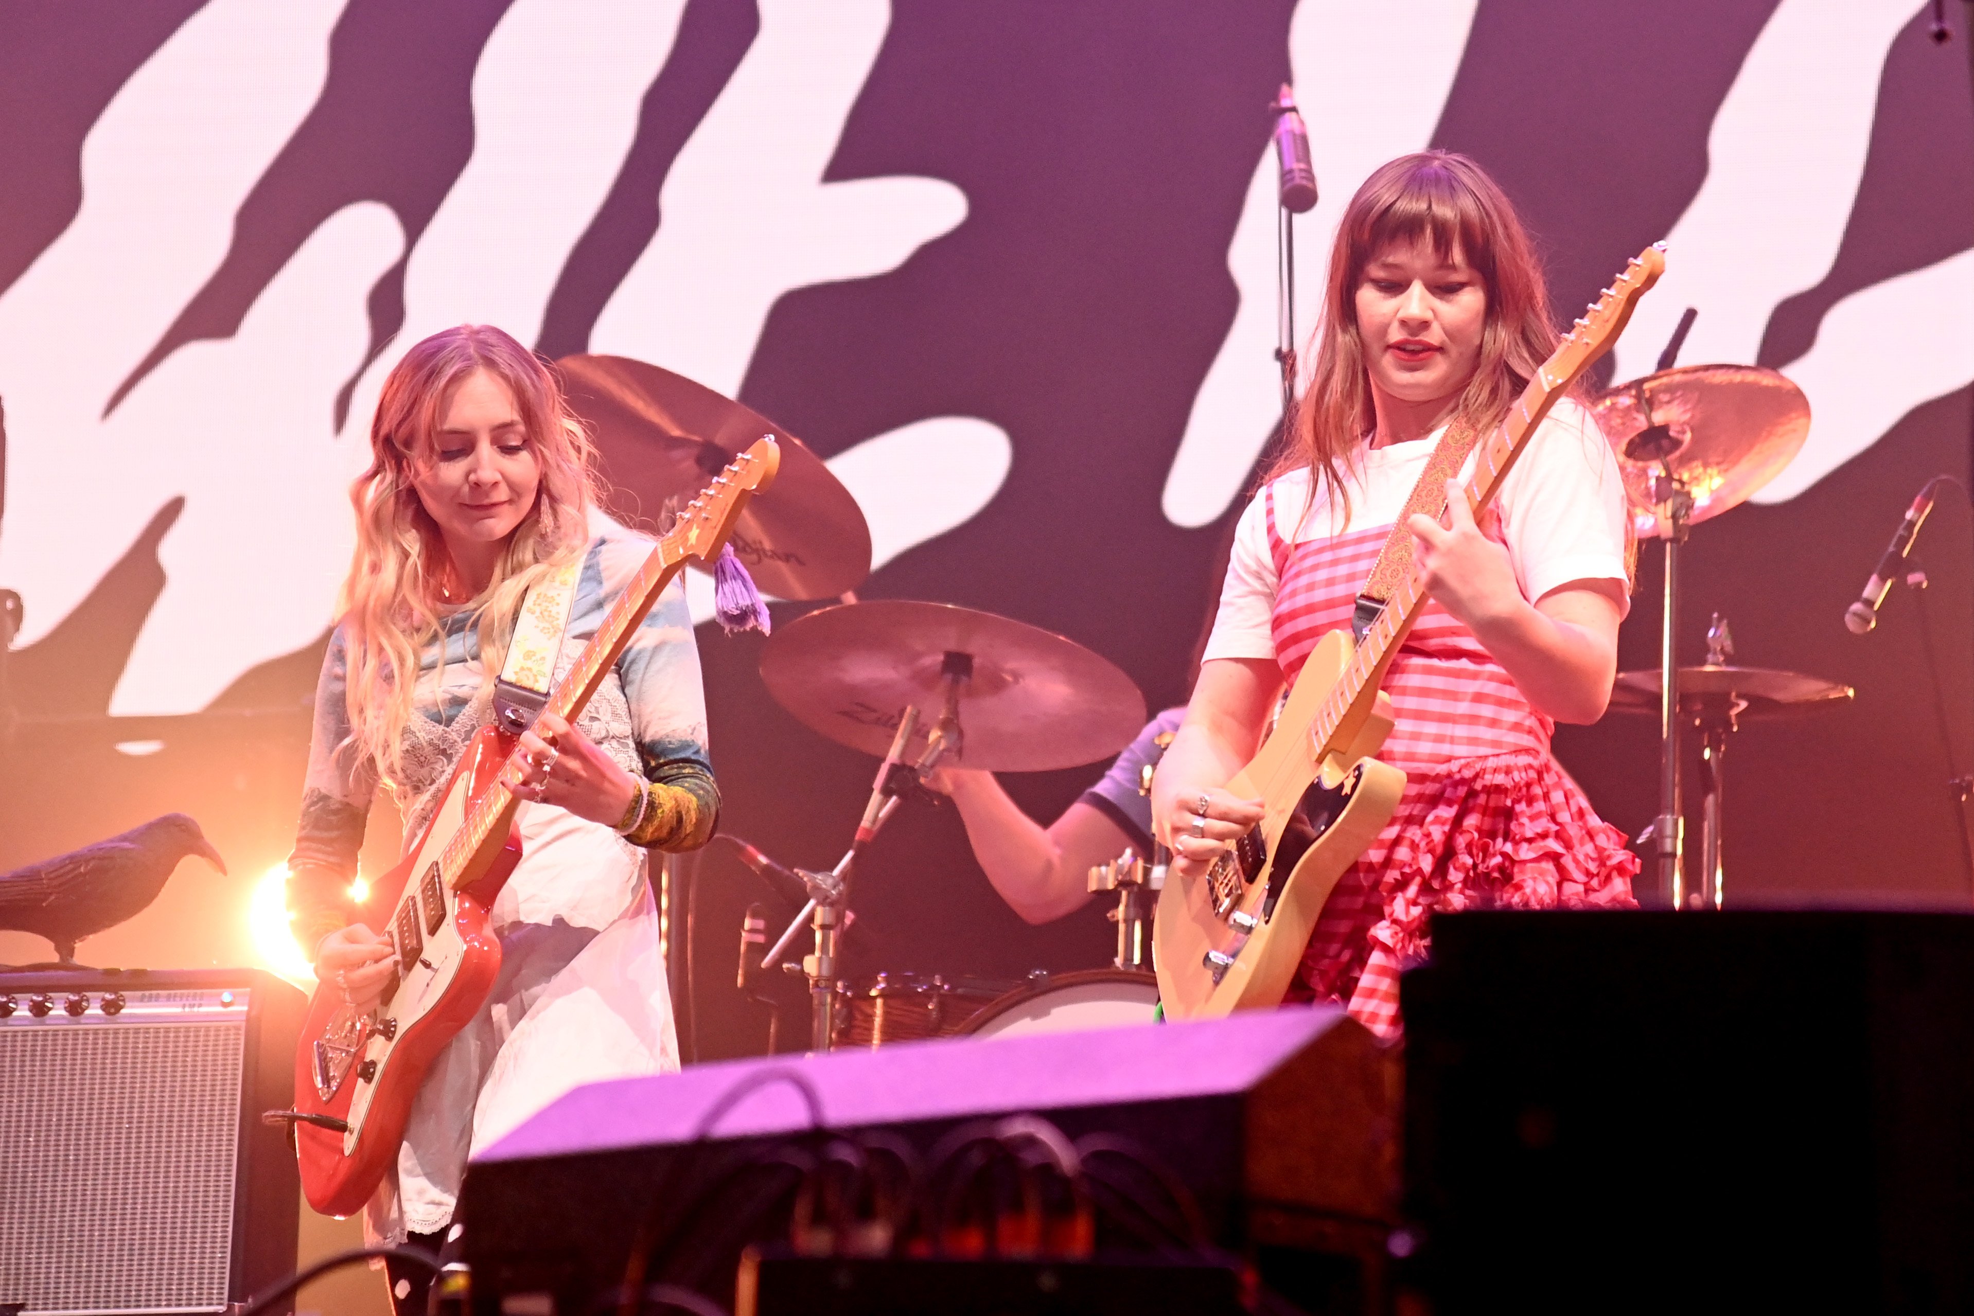
[[[1455,914],[1402,1000],[1441,1316],[1974,1310],[1968,914]]]

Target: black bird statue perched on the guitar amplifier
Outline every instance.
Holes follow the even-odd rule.
[[[166,813],[109,841],[0,872],[0,929],[47,937],[71,963],[77,941],[142,914],[188,854],[227,870],[197,823]]]

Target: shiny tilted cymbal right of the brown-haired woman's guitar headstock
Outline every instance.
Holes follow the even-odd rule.
[[[1660,533],[1652,507],[1660,458],[1686,479],[1694,525],[1745,503],[1810,434],[1802,389],[1759,365],[1682,365],[1599,393],[1591,410],[1617,450],[1638,539]]]

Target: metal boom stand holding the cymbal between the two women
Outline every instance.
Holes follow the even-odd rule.
[[[934,722],[932,734],[926,740],[926,752],[918,756],[916,764],[904,760],[904,748],[912,742],[912,732],[918,730],[918,706],[910,704],[900,714],[898,732],[890,740],[890,752],[884,756],[882,766],[878,766],[876,781],[871,787],[871,803],[865,805],[865,815],[857,825],[857,839],[851,841],[851,848],[827,872],[796,870],[809,888],[809,904],[796,914],[796,919],[768,955],[762,957],[760,967],[772,969],[782,963],[782,955],[788,953],[801,925],[809,923],[813,927],[815,951],[801,957],[801,975],[809,981],[809,1050],[827,1052],[831,1038],[837,1034],[837,935],[843,931],[845,917],[849,915],[851,866],[863,854],[865,846],[876,839],[876,833],[890,815],[898,811],[898,801],[912,793],[920,779],[940,766],[942,758],[948,754],[953,758],[959,756],[965,740],[959,728],[959,693],[971,679],[973,655],[948,653],[940,671],[940,681],[946,687],[946,702],[940,720]],[[794,965],[786,967],[790,971],[796,969]]]

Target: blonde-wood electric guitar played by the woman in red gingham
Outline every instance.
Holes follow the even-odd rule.
[[[1638,253],[1542,363],[1508,418],[1477,444],[1467,483],[1477,513],[1664,268],[1662,245]],[[1392,730],[1392,700],[1378,687],[1423,602],[1411,576],[1362,643],[1348,629],[1317,643],[1275,730],[1228,781],[1236,795],[1263,801],[1261,821],[1206,876],[1167,876],[1153,929],[1167,1018],[1281,1004],[1330,888],[1378,839],[1405,789],[1405,773],[1372,758]]]

